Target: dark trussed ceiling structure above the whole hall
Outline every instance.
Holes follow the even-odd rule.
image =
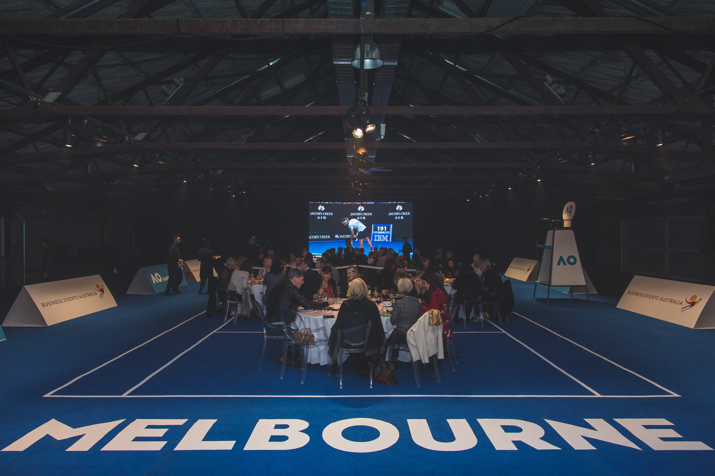
[[[4,1],[6,203],[358,201],[360,35],[383,123],[360,200],[712,196],[715,3]]]

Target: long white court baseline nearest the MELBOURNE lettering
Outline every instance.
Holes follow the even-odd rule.
[[[48,395],[46,395],[48,396]],[[663,398],[676,395],[49,395],[56,398]]]

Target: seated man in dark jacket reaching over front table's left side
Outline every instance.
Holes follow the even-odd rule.
[[[300,294],[300,287],[303,285],[303,272],[299,269],[288,271],[287,279],[275,285],[266,299],[266,332],[268,335],[285,335],[282,328],[281,311],[292,310],[295,312],[300,305],[305,309],[322,309],[335,304],[334,299],[328,299],[327,303],[307,300]],[[298,358],[293,356],[286,362],[286,365],[297,365]],[[282,363],[282,357],[278,358]]]

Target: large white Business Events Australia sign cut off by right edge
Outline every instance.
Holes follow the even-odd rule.
[[[633,276],[618,308],[691,329],[715,328],[715,286]]]

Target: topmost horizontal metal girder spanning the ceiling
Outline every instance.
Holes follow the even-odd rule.
[[[712,34],[714,16],[509,19],[0,19],[4,34]],[[663,27],[661,27],[663,26]]]

